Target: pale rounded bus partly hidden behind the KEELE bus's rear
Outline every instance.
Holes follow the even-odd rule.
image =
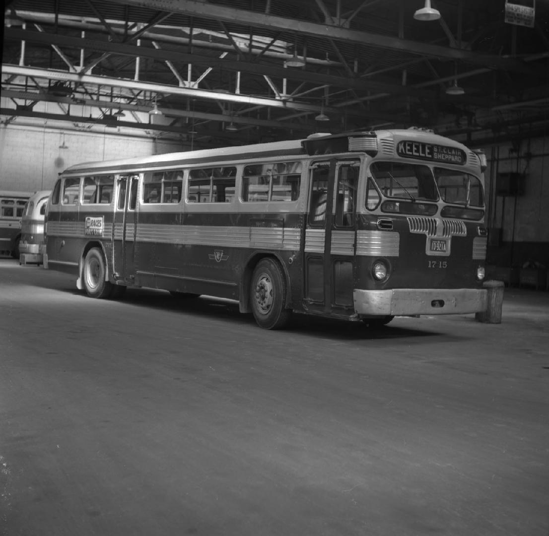
[[[44,217],[51,190],[35,192],[29,198],[21,217],[19,264],[42,264],[44,248]]]

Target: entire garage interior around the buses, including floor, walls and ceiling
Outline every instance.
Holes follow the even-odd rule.
[[[8,0],[0,189],[417,127],[483,149],[472,315],[259,330],[0,258],[1,536],[547,536],[549,2]]]

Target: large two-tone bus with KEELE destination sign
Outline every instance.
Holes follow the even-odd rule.
[[[422,129],[74,165],[46,211],[44,268],[126,288],[385,325],[486,309],[485,155]]]

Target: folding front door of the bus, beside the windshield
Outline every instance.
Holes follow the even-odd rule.
[[[317,161],[309,171],[304,244],[304,306],[318,314],[354,314],[358,159]]]

